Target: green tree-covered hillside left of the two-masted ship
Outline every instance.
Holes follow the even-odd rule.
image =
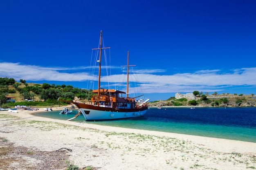
[[[8,102],[6,95],[16,97],[16,102]],[[23,79],[16,82],[13,78],[0,77],[0,104],[2,108],[15,105],[54,106],[59,104],[57,100],[59,97],[67,101],[73,101],[74,98],[86,101],[91,99],[91,90],[74,88],[65,84],[26,83],[26,80]],[[31,100],[32,102],[27,102]]]

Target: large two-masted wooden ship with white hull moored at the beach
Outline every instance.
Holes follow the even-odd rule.
[[[101,78],[101,50],[106,49],[101,47],[102,32],[100,36],[99,48],[99,80],[98,89],[92,91],[91,104],[81,102],[70,102],[59,99],[63,102],[74,104],[81,110],[81,113],[86,120],[110,120],[110,119],[126,119],[132,117],[141,117],[148,110],[147,102],[149,99],[136,99],[138,97],[128,97],[129,83],[129,51],[127,57],[127,91],[118,91],[114,89],[105,89],[100,87]],[[109,47],[107,47],[109,48]],[[94,49],[93,49],[94,50]],[[126,97],[124,97],[124,96]]]

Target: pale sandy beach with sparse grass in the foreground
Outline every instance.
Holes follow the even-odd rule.
[[[66,164],[55,164],[67,160],[79,169],[94,167],[98,170],[256,168],[256,143],[99,126],[31,115],[42,111],[0,112],[0,148],[15,148],[12,154],[0,155],[1,170],[65,170]],[[68,150],[56,152],[61,148]],[[20,154],[22,150],[26,152]],[[38,154],[43,156],[36,156]],[[50,159],[46,159],[47,156]]]

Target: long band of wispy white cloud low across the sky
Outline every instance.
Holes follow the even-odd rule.
[[[20,63],[0,62],[0,77],[11,77],[26,79],[27,81],[66,81],[81,82],[97,80],[97,75],[81,71],[89,67],[64,68],[64,67],[43,67]],[[120,67],[111,67],[112,69]],[[74,73],[65,73],[72,70]],[[80,72],[81,71],[81,72]],[[129,76],[131,82],[130,91],[135,91],[133,82],[138,82],[144,93],[176,93],[199,91],[221,91],[232,86],[256,86],[256,68],[236,68],[228,71],[221,70],[200,70],[194,73],[177,73],[166,75],[166,70],[139,70]],[[165,75],[154,73],[163,72]],[[115,73],[115,71],[112,71]],[[110,82],[115,87],[126,87],[126,74],[120,72],[108,77],[102,76],[101,81]],[[121,89],[119,89],[121,90]]]

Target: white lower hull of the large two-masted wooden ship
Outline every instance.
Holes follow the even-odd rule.
[[[102,110],[92,110],[80,108],[83,116],[86,120],[114,120],[114,119],[127,119],[132,117],[141,117],[147,110],[136,111],[136,112],[111,112]],[[86,114],[88,113],[89,114]]]

